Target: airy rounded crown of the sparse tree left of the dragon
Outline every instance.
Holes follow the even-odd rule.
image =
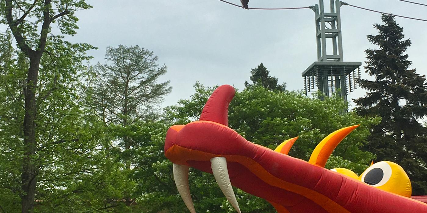
[[[163,96],[171,92],[170,81],[158,83],[167,73],[166,65],[159,66],[154,52],[139,46],[107,47],[107,63],[95,66],[99,84],[92,98],[107,124],[127,126],[137,119],[149,117]],[[125,144],[129,148],[130,144]]]

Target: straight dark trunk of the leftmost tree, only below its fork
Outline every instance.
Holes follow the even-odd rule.
[[[35,93],[37,88],[37,78],[40,65],[40,58],[38,56],[30,59],[28,69],[27,84],[25,89],[25,116],[23,122],[24,130],[24,158],[22,166],[22,190],[21,207],[22,213],[32,212],[34,209],[36,176],[38,167],[35,165],[34,156],[36,148],[35,140],[35,118],[36,118],[36,100]]]

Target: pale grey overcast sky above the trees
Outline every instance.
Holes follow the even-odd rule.
[[[239,0],[229,0],[239,4]],[[344,0],[383,12],[427,19],[427,6],[399,0]],[[413,0],[427,4],[427,0]],[[78,34],[72,42],[97,46],[94,63],[104,61],[105,48],[139,45],[158,55],[168,66],[161,80],[170,80],[173,92],[163,106],[193,94],[193,84],[231,84],[243,89],[251,68],[264,63],[270,75],[303,89],[303,72],[316,60],[314,12],[298,10],[244,10],[219,0],[89,0],[93,9],[79,11]],[[328,3],[328,0],[325,0]],[[250,0],[250,7],[303,7],[318,0]],[[365,61],[364,50],[374,48],[366,35],[380,23],[380,14],[342,6],[345,61]],[[419,74],[427,74],[427,22],[396,18],[412,40],[409,59]],[[363,72],[363,78],[368,75]],[[349,98],[365,94],[357,89]],[[354,107],[354,104],[353,104]]]

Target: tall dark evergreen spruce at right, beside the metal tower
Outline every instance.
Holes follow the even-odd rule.
[[[427,194],[427,128],[420,124],[427,115],[427,83],[405,54],[411,40],[404,40],[403,28],[392,15],[374,24],[377,35],[368,40],[378,49],[366,50],[366,72],[375,81],[360,79],[369,92],[355,101],[359,115],[378,115],[380,124],[371,130],[366,149],[377,155],[374,161],[400,164],[412,181],[412,195]]]

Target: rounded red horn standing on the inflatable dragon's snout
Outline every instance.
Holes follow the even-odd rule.
[[[214,121],[228,126],[228,105],[236,91],[230,85],[222,85],[213,91],[203,108],[200,121]]]

